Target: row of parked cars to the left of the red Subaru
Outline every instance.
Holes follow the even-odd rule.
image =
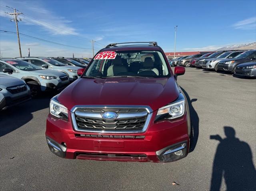
[[[87,64],[75,58],[17,57],[0,59],[0,110],[45,91],[62,91]],[[66,61],[68,63],[62,63]],[[70,61],[72,60],[72,61]],[[74,61],[74,62],[73,62]],[[82,62],[82,61],[81,61]]]

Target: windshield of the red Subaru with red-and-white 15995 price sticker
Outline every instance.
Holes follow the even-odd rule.
[[[105,51],[98,53],[83,77],[167,77],[159,51]]]

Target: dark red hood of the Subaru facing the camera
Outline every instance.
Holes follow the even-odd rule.
[[[75,105],[145,105],[152,110],[173,102],[180,90],[170,78],[78,79],[58,95],[69,110]]]

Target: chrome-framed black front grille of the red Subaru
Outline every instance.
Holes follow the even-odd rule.
[[[118,116],[112,120],[102,117],[110,111]],[[144,132],[150,117],[148,108],[80,107],[72,112],[74,128],[84,132]]]

